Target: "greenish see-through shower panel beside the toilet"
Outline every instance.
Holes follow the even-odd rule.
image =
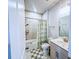
[[[47,42],[47,21],[40,20],[38,25],[38,47],[40,48],[43,43]]]

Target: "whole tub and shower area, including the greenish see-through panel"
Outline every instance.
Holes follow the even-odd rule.
[[[42,43],[47,43],[47,21],[41,19],[25,19],[26,49],[40,48]]]

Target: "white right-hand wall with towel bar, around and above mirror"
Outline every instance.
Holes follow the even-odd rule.
[[[43,14],[43,18],[47,18],[48,21],[48,37],[59,37],[59,19],[69,14],[70,7],[68,6],[67,0],[60,0]]]

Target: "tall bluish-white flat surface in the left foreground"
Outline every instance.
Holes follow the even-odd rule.
[[[24,56],[24,0],[9,0],[11,59]]]

